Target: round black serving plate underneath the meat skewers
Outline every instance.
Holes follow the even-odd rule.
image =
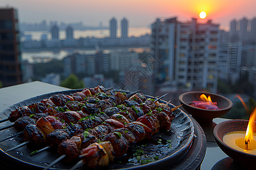
[[[50,94],[40,95],[24,101],[20,101],[19,103],[14,104],[11,107],[5,109],[3,112],[1,112],[0,118],[1,120],[5,119],[7,118],[7,116],[9,116],[10,112],[15,110],[16,108],[23,105],[29,105],[32,103],[40,102],[42,99],[48,99],[53,94],[62,93],[68,95],[77,91],[81,90],[53,92]],[[129,93],[128,91],[125,92]],[[151,98],[152,96],[147,97]],[[166,101],[160,100],[160,103],[166,103]],[[170,104],[169,106],[171,108],[175,107],[172,104]],[[137,163],[135,159],[130,158],[122,163],[110,163],[109,167],[107,167],[106,169],[164,169],[167,167],[171,168],[170,165],[173,165],[173,168],[179,168],[180,166],[179,164],[177,164],[178,162],[181,162],[181,165],[183,165],[183,167],[185,164],[188,164],[189,162],[190,163],[188,164],[188,167],[191,165],[193,165],[193,167],[198,167],[204,158],[206,149],[204,132],[203,130],[201,130],[200,126],[197,124],[195,120],[193,120],[180,109],[177,109],[176,111],[174,111],[174,113],[175,118],[172,121],[172,126],[169,131],[162,131],[156,133],[151,140],[138,144],[143,146],[146,145],[146,152],[144,152],[142,158],[143,156],[145,158],[148,158],[149,154],[150,158],[158,156],[158,160],[155,160],[154,162],[147,164],[140,164]],[[9,121],[3,122],[1,123],[0,128],[10,124],[11,123]],[[14,128],[2,130],[0,131],[0,139],[9,137],[10,135],[13,135],[15,133],[17,133],[17,131]],[[194,135],[196,137],[199,136],[200,138],[195,139]],[[172,147],[168,147],[169,145],[167,145],[167,143],[159,143],[159,139],[162,139],[162,141],[170,140]],[[17,148],[16,150],[10,151],[8,153],[4,152],[13,146],[19,145],[22,142],[22,136],[17,136],[0,143],[0,159],[2,162],[7,163],[10,168],[22,167],[27,169],[42,169],[43,167],[46,167],[49,163],[51,163],[53,160],[60,156],[59,154],[57,154],[56,148],[52,148],[37,155],[30,156],[30,152],[38,150],[43,147],[33,147],[30,145]],[[189,150],[193,150],[195,154],[191,152],[189,153]],[[188,161],[183,162],[184,158],[188,159]],[[194,159],[197,160],[197,162],[195,162]],[[61,161],[54,165],[53,169],[69,169],[74,164],[75,163],[66,163],[64,161]]]

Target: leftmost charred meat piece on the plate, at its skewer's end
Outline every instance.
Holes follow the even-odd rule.
[[[23,116],[30,116],[31,114],[34,114],[34,112],[32,112],[27,106],[23,106],[15,109],[15,111],[12,111],[8,118],[10,122],[15,122],[18,118]]]

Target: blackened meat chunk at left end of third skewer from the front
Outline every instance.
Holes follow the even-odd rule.
[[[61,142],[69,139],[70,136],[64,129],[53,130],[46,136],[46,143],[48,145],[59,145]]]

